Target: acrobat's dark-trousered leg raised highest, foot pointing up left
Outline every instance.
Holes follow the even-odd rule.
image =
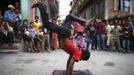
[[[45,28],[51,30],[52,32],[56,32],[57,34],[59,34],[60,37],[63,38],[69,37],[71,35],[71,31],[68,28],[49,22],[49,17],[48,14],[46,13],[46,7],[43,6],[42,3],[38,2],[34,4],[33,7],[34,6],[39,7],[40,14],[43,21],[43,26]]]

